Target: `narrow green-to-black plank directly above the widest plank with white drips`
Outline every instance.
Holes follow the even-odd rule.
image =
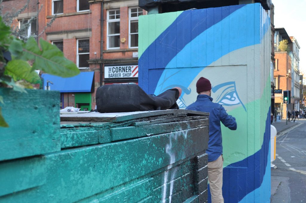
[[[116,127],[110,129],[112,141],[158,135],[208,125],[208,119],[163,123],[146,126]]]

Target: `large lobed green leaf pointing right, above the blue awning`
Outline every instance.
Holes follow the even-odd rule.
[[[42,70],[55,76],[72,77],[80,73],[76,65],[64,57],[64,54],[56,46],[40,39],[39,49],[35,39],[30,37],[24,47],[24,60],[34,59],[32,70]]]

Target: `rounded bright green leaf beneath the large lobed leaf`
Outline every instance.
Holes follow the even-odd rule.
[[[9,61],[5,67],[6,73],[12,76],[15,80],[24,79],[33,84],[40,83],[40,77],[35,71],[31,71],[32,68],[27,61],[15,59]]]

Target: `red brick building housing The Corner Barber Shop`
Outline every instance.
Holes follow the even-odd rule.
[[[4,0],[3,13],[21,9],[26,2]],[[61,92],[61,108],[90,110],[95,108],[99,86],[138,82],[138,16],[146,13],[138,7],[138,0],[30,0],[12,26],[23,26],[34,17],[24,38],[37,36],[57,15],[39,38],[62,50],[81,74],[68,79],[42,74],[44,88],[47,80],[52,81],[50,90]]]

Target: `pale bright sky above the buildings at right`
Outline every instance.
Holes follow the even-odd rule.
[[[306,0],[272,0],[274,26],[285,28],[300,45],[300,71],[306,74]]]

